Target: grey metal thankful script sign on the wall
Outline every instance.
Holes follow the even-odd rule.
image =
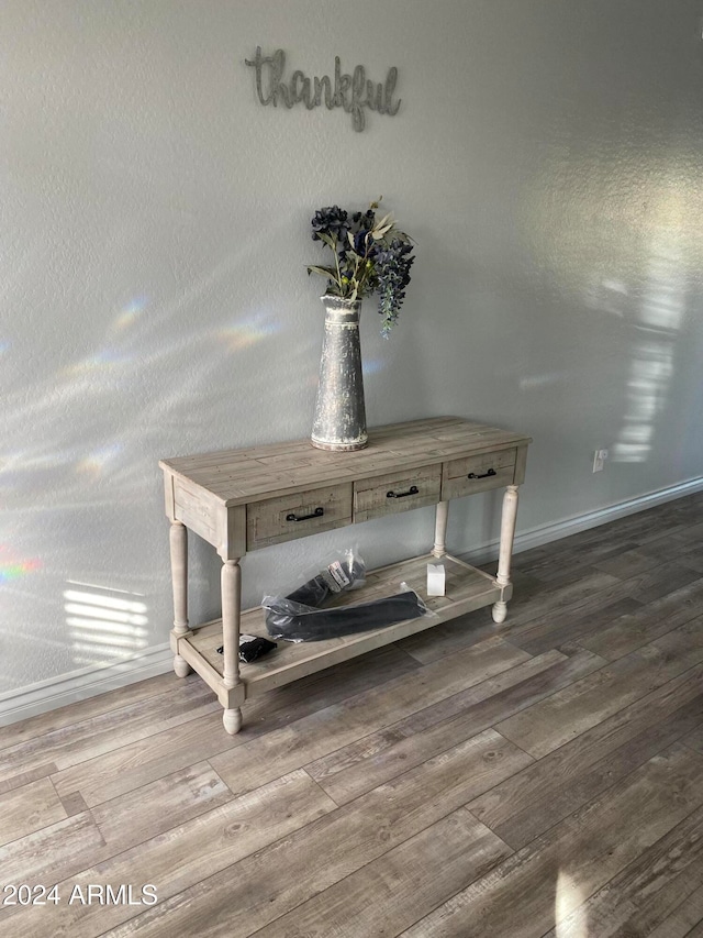
[[[366,126],[366,110],[392,118],[401,104],[400,98],[393,101],[397,68],[389,68],[386,81],[377,85],[366,77],[362,65],[357,65],[353,75],[343,75],[338,55],[334,59],[334,79],[328,75],[309,78],[300,69],[290,78],[286,77],[286,53],[282,48],[276,49],[274,55],[263,55],[261,47],[257,46],[256,57],[244,60],[256,69],[256,93],[263,104],[277,108],[280,101],[287,108],[304,104],[311,111],[324,101],[328,111],[343,108],[352,114],[356,131]]]

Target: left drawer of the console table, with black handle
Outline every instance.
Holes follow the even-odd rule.
[[[246,509],[246,549],[293,541],[352,523],[352,483],[298,492]]]

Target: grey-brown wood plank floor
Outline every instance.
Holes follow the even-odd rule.
[[[514,582],[233,738],[170,674],[0,730],[2,938],[703,936],[703,495]]]

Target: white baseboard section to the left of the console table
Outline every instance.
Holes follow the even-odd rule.
[[[136,684],[147,677],[156,677],[167,673],[172,666],[174,653],[166,642],[147,648],[138,658],[120,664],[83,667],[70,674],[62,674],[59,677],[51,677],[48,681],[40,681],[27,687],[0,694],[0,726],[96,697],[127,684]]]

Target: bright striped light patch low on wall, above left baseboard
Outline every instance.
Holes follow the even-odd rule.
[[[137,594],[69,581],[64,613],[78,666],[118,664],[147,645],[147,607]]]

